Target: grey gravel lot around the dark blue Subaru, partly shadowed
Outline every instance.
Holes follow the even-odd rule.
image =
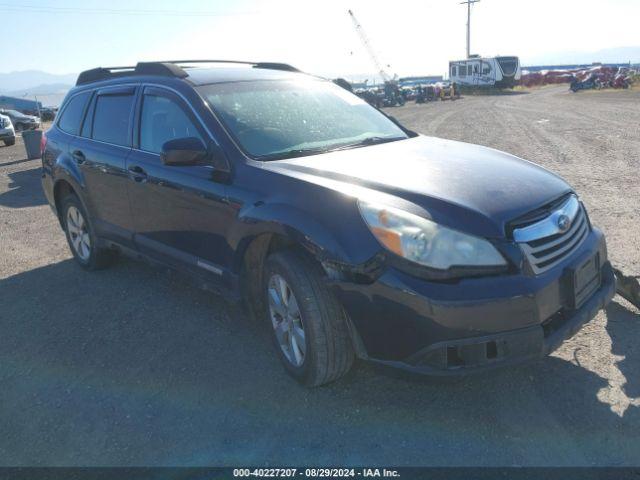
[[[390,112],[559,172],[640,273],[640,93]],[[619,297],[533,365],[444,382],[358,364],[307,390],[263,327],[181,276],[77,268],[24,157],[0,147],[0,465],[640,465],[640,314]]]

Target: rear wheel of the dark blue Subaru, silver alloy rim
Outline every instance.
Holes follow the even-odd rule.
[[[91,217],[87,215],[78,197],[73,194],[62,200],[62,223],[69,249],[82,268],[89,271],[101,270],[115,261],[113,250],[99,246],[99,238],[93,229]]]

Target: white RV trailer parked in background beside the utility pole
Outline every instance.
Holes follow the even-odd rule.
[[[511,88],[521,76],[518,57],[481,58],[476,55],[449,62],[449,80],[459,85]]]

